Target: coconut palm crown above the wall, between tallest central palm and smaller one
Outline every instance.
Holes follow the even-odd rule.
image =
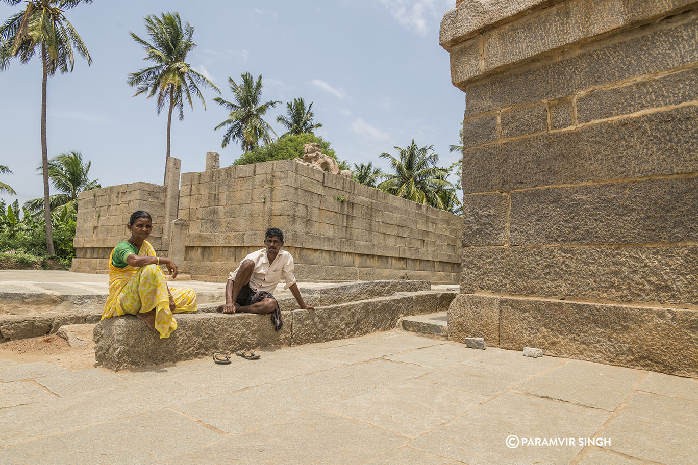
[[[281,101],[269,100],[260,103],[262,100],[262,75],[259,75],[256,82],[250,73],[244,73],[241,77],[242,82],[239,85],[232,80],[232,77],[228,77],[228,84],[230,84],[235,103],[228,102],[221,97],[214,98],[218,105],[230,112],[228,119],[214,129],[218,130],[224,126],[229,126],[223,135],[221,147],[225,148],[230,142],[239,142],[242,145],[242,152],[247,153],[258,146],[260,140],[265,144],[272,142],[270,131],[276,136],[272,126],[264,121],[262,116],[267,113],[268,109],[276,107]]]

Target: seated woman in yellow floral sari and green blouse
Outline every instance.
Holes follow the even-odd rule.
[[[150,214],[137,211],[126,224],[131,237],[114,247],[109,257],[109,296],[102,319],[132,314],[142,319],[160,337],[170,337],[177,329],[172,313],[195,312],[196,294],[191,289],[168,287],[160,265],[177,276],[177,265],[156,257],[146,239],[153,230]]]

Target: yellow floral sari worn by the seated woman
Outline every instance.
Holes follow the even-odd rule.
[[[109,256],[109,296],[104,304],[102,319],[156,309],[155,329],[160,333],[161,339],[170,337],[170,333],[177,329],[177,321],[174,321],[170,312],[167,280],[163,270],[155,264],[117,268],[112,264],[113,254],[114,250]],[[143,241],[138,254],[156,257],[155,250],[148,241]],[[191,289],[170,287],[170,294],[174,300],[174,312],[196,311],[196,293]]]

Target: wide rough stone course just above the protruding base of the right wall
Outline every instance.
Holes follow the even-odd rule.
[[[476,290],[695,304],[698,246],[465,247],[461,292]]]

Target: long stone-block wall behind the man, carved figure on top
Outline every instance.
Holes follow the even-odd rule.
[[[303,280],[455,282],[459,218],[291,160],[182,175],[184,268],[219,280],[279,227]]]

